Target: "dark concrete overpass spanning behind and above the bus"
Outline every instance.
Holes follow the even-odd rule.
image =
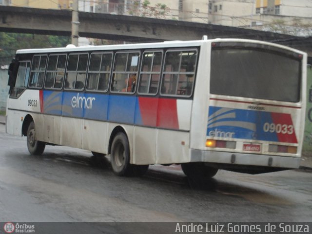
[[[0,6],[0,31],[71,35],[72,12],[26,7]],[[245,38],[273,41],[307,51],[312,55],[312,39],[258,30],[178,20],[79,12],[79,36],[125,41],[193,40]]]

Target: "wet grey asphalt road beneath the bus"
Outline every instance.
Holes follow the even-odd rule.
[[[179,167],[115,176],[88,151],[47,146],[30,156],[25,137],[0,124],[0,221],[312,221],[312,172],[219,171],[204,185]]]

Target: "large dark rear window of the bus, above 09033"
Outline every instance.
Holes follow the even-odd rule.
[[[298,102],[301,61],[260,48],[213,47],[212,94]]]

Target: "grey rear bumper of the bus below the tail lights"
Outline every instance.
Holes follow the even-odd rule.
[[[191,162],[250,165],[276,168],[299,168],[300,157],[191,150]]]

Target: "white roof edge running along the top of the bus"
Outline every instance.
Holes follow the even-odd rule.
[[[157,48],[173,48],[173,47],[194,47],[201,46],[204,43],[218,42],[218,41],[237,41],[237,42],[249,42],[249,43],[260,43],[267,45],[274,45],[283,49],[292,50],[297,53],[302,53],[302,51],[274,44],[271,42],[251,40],[251,39],[203,39],[203,40],[173,40],[173,41],[163,41],[163,42],[153,42],[153,43],[134,43],[134,44],[118,44],[118,45],[88,45],[88,46],[74,46],[68,45],[67,47],[59,48],[43,48],[43,49],[21,49],[17,50],[17,54],[40,54],[40,53],[66,53],[66,52],[81,52],[81,51],[112,51],[112,50],[133,50],[133,49],[157,49]]]

